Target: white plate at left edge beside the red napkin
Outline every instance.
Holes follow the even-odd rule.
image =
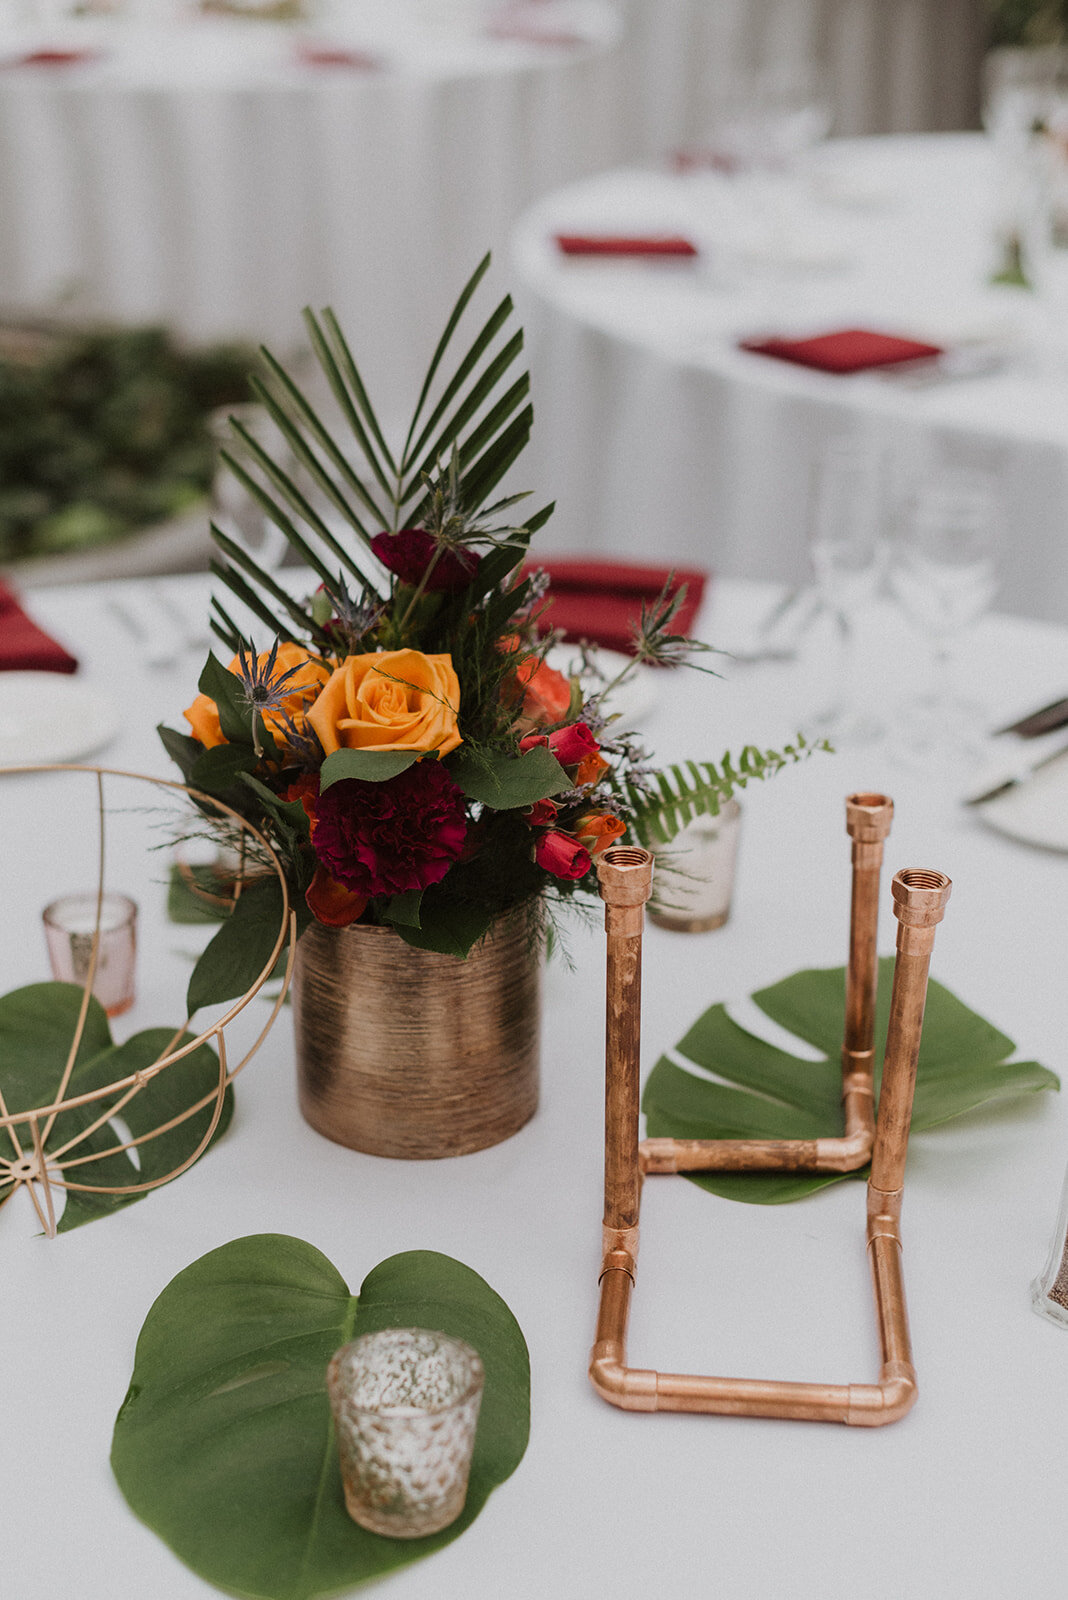
[[[0,766],[80,762],[118,733],[118,709],[61,672],[0,672]]]

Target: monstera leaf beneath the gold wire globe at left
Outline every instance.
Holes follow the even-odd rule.
[[[50,1106],[62,1082],[64,1066],[78,1022],[82,987],[78,984],[29,984],[0,997],[0,1096],[10,1115]],[[189,1035],[176,1038],[171,1027],[150,1027],[134,1034],[123,1045],[115,1045],[101,1003],[90,998],[78,1054],[66,1088],[66,1098],[86,1094],[122,1078],[131,1077],[157,1062],[165,1051],[176,1050]],[[67,1203],[59,1219],[58,1232],[69,1232],[82,1222],[107,1216],[120,1206],[144,1198],[144,1190],[130,1192],[131,1186],[166,1178],[193,1154],[211,1122],[211,1106],[184,1122],[169,1126],[166,1133],[149,1138],[137,1146],[139,1166],[126,1150],[117,1150],[130,1138],[139,1139],[171,1123],[190,1106],[213,1094],[219,1085],[219,1059],[201,1045],[189,1056],[149,1078],[126,1101],[118,1115],[130,1130],[102,1122],[93,1123],[117,1104],[118,1094],[109,1094],[88,1106],[59,1112],[46,1138],[45,1155],[51,1157],[50,1171],[62,1166],[62,1176],[72,1184],[102,1186],[114,1194],[67,1192]],[[225,1091],[222,1115],[214,1138],[227,1128],[233,1110],[233,1093]],[[43,1131],[42,1125],[42,1131]],[[2,1130],[0,1130],[2,1133]],[[14,1134],[21,1149],[32,1150],[32,1133],[26,1123],[16,1125]],[[11,1174],[14,1142],[3,1133],[6,1149],[0,1155],[0,1205],[11,1197],[26,1179]],[[109,1154],[117,1152],[117,1154]],[[128,1190],[128,1192],[123,1192]]]

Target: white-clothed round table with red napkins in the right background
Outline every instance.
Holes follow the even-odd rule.
[[[978,134],[833,141],[804,187],[611,171],[515,229],[545,541],[798,579],[812,461],[876,443],[889,509],[943,467],[996,474],[999,605],[1068,621],[1068,371],[1034,298],[991,286],[996,184]],[[758,218],[772,218],[772,224]],[[782,227],[772,245],[771,227]],[[695,262],[564,256],[556,234],[683,234]],[[970,378],[835,376],[737,349],[876,328],[990,358]]]

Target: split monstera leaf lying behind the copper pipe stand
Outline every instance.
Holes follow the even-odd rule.
[[[879,963],[876,1006],[876,1093],[891,1014],[894,960]],[[756,1038],[724,1006],[700,1016],[676,1046],[686,1069],[662,1056],[649,1075],[643,1110],[649,1136],[678,1139],[811,1139],[841,1133],[841,1038],[846,971],[809,970],[753,995],[790,1034],[825,1061],[804,1061]],[[916,1070],[913,1131],[934,1128],[977,1106],[1057,1090],[1060,1080],[1036,1061],[1009,1061],[1010,1038],[970,1011],[934,979]],[[713,1082],[708,1074],[715,1074]],[[857,1173],[687,1173],[710,1194],[755,1205],[799,1200]]]

